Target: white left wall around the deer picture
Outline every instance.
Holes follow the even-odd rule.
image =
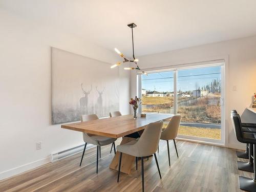
[[[119,59],[82,39],[0,9],[0,179],[50,161],[51,153],[83,143],[79,132],[50,125],[50,47],[105,62]],[[67,71],[68,74],[68,71]],[[120,111],[130,112],[130,72],[120,69]],[[42,141],[42,150],[35,143]],[[18,168],[17,168],[18,167]]]

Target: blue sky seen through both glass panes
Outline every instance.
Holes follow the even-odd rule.
[[[159,92],[174,91],[172,71],[142,75],[142,89]],[[210,84],[212,80],[221,80],[221,66],[178,70],[177,90],[193,91]]]

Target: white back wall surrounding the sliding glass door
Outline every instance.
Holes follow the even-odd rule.
[[[256,115],[245,109],[252,102],[253,93],[256,92],[256,36],[142,56],[139,57],[139,66],[141,69],[155,68],[224,57],[229,58],[226,82],[229,86],[225,90],[226,146],[244,148],[234,135],[230,110],[236,109],[238,113],[243,114],[242,120],[256,122]],[[135,84],[136,73],[131,73],[131,96],[136,94]],[[237,87],[237,91],[232,91],[233,86]]]

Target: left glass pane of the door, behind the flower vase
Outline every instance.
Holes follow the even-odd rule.
[[[174,73],[172,71],[141,76],[143,113],[174,113]]]

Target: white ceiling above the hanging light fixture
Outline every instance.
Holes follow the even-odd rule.
[[[0,0],[0,8],[131,56],[256,35],[255,0]]]

